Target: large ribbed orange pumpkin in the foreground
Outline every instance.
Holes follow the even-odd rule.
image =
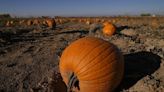
[[[110,42],[84,37],[63,51],[59,69],[68,92],[111,92],[123,77],[123,55]]]

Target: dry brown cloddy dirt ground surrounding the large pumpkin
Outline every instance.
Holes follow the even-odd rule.
[[[117,33],[99,23],[64,23],[56,29],[0,28],[0,92],[66,92],[58,70],[62,51],[85,36],[110,41],[123,52],[125,74],[116,92],[164,92],[164,18],[122,18]],[[95,30],[95,31],[93,31]]]

